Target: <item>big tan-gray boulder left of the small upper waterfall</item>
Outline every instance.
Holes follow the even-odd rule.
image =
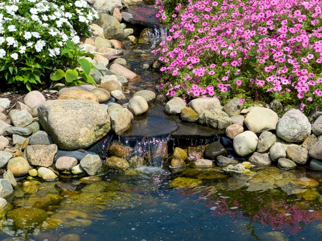
[[[108,14],[101,14],[96,24],[103,28],[106,39],[116,39],[119,41],[129,40],[119,21]]]

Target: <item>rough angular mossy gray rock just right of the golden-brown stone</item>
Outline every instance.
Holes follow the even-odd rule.
[[[215,130],[224,131],[231,125],[231,119],[228,114],[219,108],[204,109],[199,115],[199,123]]]

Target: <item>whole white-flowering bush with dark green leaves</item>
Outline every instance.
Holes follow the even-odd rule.
[[[49,84],[48,77],[54,69],[69,67],[69,63],[60,58],[67,40],[79,43],[78,35],[88,36],[89,24],[97,17],[96,12],[84,0],[1,2],[2,85],[25,86],[31,91],[37,86]],[[83,61],[81,66],[86,68],[88,64]],[[87,72],[88,68],[84,73]],[[85,78],[87,82],[92,81],[88,76]]]

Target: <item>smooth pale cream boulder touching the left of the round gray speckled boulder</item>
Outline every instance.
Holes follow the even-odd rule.
[[[277,113],[264,107],[252,108],[245,118],[245,125],[254,133],[275,130],[277,122]]]

